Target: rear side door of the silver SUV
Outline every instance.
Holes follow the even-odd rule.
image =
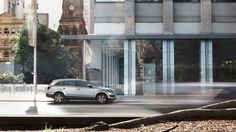
[[[63,81],[62,89],[65,91],[65,96],[69,98],[74,98],[77,96],[76,92],[78,90],[77,82],[74,80]]]

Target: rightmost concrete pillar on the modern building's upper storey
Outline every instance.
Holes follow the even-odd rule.
[[[201,0],[201,33],[211,33],[211,0]]]

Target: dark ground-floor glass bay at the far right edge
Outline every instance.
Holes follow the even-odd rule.
[[[236,40],[213,41],[214,82],[236,81]]]

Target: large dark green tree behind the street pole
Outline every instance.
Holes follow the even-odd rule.
[[[29,46],[27,26],[11,38],[13,61],[22,66],[26,80],[32,82],[33,47]],[[44,25],[37,26],[37,76],[38,83],[49,83],[53,79],[73,77],[72,55],[60,44],[60,35]]]

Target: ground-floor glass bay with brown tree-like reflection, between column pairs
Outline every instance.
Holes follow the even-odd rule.
[[[136,41],[136,94],[160,94],[162,81],[162,41]]]

